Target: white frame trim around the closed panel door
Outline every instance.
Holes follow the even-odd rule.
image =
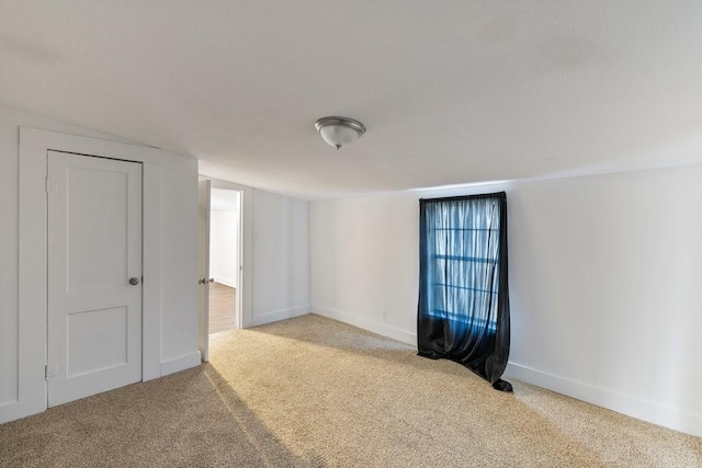
[[[161,169],[163,152],[126,142],[20,127],[18,402],[3,419],[44,411],[46,404],[46,156],[48,150],[137,161],[143,191],[143,380],[161,376]]]

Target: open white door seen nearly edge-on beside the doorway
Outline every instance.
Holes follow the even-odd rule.
[[[200,356],[210,361],[210,208],[211,181],[199,182],[199,240],[200,240]]]

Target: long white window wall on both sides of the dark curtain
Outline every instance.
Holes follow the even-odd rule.
[[[418,199],[501,190],[508,374],[702,435],[700,165],[313,202],[313,311],[416,343]]]

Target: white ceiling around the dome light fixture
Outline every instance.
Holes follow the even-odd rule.
[[[702,2],[2,0],[0,103],[306,198],[678,164]]]

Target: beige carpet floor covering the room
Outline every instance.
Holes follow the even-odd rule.
[[[0,425],[0,466],[700,467],[702,440],[314,315],[211,363]]]

